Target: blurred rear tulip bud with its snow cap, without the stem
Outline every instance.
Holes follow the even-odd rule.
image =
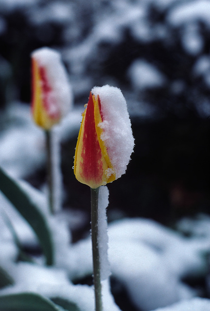
[[[41,48],[31,57],[32,114],[37,125],[49,130],[70,109],[70,84],[60,53]]]

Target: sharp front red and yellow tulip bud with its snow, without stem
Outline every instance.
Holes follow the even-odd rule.
[[[108,85],[94,87],[76,145],[77,180],[95,189],[121,177],[133,147],[131,122],[121,90]]]

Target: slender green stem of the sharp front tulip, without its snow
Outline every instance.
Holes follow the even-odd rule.
[[[100,272],[100,256],[98,241],[98,196],[99,188],[91,190],[91,239],[92,239],[92,258],[93,258],[93,281],[95,293],[95,311],[103,311],[102,306],[102,285]]]

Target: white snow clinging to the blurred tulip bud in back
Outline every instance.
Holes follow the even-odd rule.
[[[67,72],[61,62],[60,53],[41,48],[31,54],[39,66],[47,71],[51,90],[51,109],[59,109],[62,116],[69,112],[72,104],[72,93],[68,81]]]

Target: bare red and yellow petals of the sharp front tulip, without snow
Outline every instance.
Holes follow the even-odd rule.
[[[116,179],[115,169],[101,139],[103,129],[98,126],[103,122],[99,96],[89,96],[76,145],[74,174],[76,179],[95,189]]]

